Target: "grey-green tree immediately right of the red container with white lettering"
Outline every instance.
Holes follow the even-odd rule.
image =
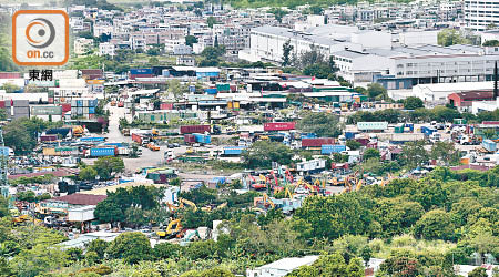
[[[338,136],[343,125],[338,116],[327,113],[308,113],[298,121],[297,129],[306,133],[316,133],[318,136]]]

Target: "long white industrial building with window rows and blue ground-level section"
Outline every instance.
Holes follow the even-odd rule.
[[[333,53],[333,59],[339,75],[354,84],[371,81],[403,90],[421,83],[490,81],[499,54],[492,48],[426,44],[344,50]]]

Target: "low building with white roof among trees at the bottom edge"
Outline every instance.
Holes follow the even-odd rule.
[[[247,269],[246,277],[282,277],[286,276],[301,266],[309,266],[318,259],[319,256],[305,256],[301,258],[283,258],[272,264]]]

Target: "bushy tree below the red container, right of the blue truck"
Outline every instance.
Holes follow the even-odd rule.
[[[291,150],[278,142],[258,141],[243,152],[244,162],[249,168],[269,168],[272,162],[287,165],[292,156]]]

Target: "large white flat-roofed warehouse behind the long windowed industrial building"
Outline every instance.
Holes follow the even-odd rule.
[[[240,58],[248,61],[281,62],[283,45],[289,41],[292,54],[308,52],[313,48],[326,57],[332,53],[350,49],[363,51],[370,48],[391,45],[391,34],[378,31],[359,31],[357,27],[320,25],[306,31],[264,25],[252,29],[251,48],[240,51]]]

